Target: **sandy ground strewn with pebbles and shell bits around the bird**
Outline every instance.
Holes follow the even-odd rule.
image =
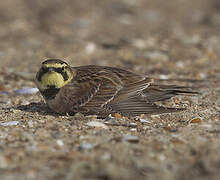
[[[218,0],[7,0],[0,27],[0,179],[219,179]],[[122,67],[200,94],[163,103],[187,107],[172,114],[57,116],[38,93],[16,91],[35,88],[45,58]]]

